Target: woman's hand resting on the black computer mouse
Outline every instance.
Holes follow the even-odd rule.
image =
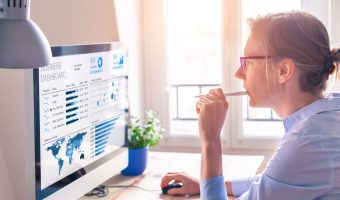
[[[168,191],[169,195],[198,195],[200,193],[199,180],[183,172],[169,172],[161,181],[161,188],[169,182],[182,183],[183,187],[173,188]]]

